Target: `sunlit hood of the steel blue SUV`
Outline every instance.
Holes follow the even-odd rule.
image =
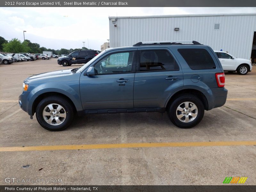
[[[52,71],[47,73],[41,73],[34,76],[30,76],[24,80],[24,83],[31,80],[46,80],[49,78],[61,77],[61,76],[69,76],[73,75],[74,73],[71,72],[72,69],[65,69],[60,71]]]

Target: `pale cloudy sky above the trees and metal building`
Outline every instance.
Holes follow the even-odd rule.
[[[256,13],[256,7],[0,7],[0,36],[50,49],[83,46],[100,50],[108,42],[108,16]],[[85,42],[85,43],[83,43]]]

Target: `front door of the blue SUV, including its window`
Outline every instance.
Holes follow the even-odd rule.
[[[136,50],[110,52],[93,64],[95,75],[80,77],[84,110],[133,108]]]

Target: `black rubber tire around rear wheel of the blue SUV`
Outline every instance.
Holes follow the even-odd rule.
[[[178,111],[178,107],[180,107],[180,106],[185,107],[185,104],[182,104],[182,103],[185,103],[185,102],[189,103],[189,108],[185,108],[185,111]],[[191,113],[190,113],[189,109],[190,109],[190,107],[192,108],[192,106],[193,106],[192,104],[195,104],[197,109],[192,110]],[[188,109],[188,110],[186,110],[186,109]],[[195,95],[192,95],[192,94],[180,95],[178,98],[176,98],[171,103],[170,107],[167,109],[167,113],[168,113],[168,116],[171,119],[172,123],[174,125],[176,125],[177,127],[191,128],[191,127],[194,127],[197,124],[199,124],[200,121],[202,120],[202,118],[204,116],[204,105],[203,105],[202,101],[199,98],[197,98]],[[194,118],[194,117],[192,117],[190,115],[187,115],[187,114],[185,114],[183,116],[182,113],[183,114],[188,113],[188,114],[191,114],[191,115],[193,113],[193,115],[194,114],[197,114],[197,115]],[[181,120],[180,120],[177,117],[178,115],[183,116],[184,119],[183,119],[183,117],[181,117],[180,118]],[[185,121],[186,116],[188,116],[188,122],[183,122],[183,121]]]

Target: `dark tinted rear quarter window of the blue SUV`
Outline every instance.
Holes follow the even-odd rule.
[[[205,49],[178,49],[178,52],[193,70],[216,68],[211,55]]]

